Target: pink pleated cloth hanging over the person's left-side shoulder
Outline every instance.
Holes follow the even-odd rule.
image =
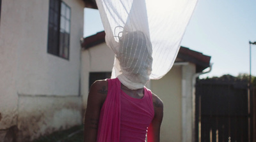
[[[108,79],[108,95],[100,110],[98,142],[120,141],[120,94],[121,83],[118,78]]]

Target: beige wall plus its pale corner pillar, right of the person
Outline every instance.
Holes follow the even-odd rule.
[[[161,125],[161,141],[193,141],[193,76],[195,64],[174,64],[160,80],[151,80],[152,92],[164,103],[164,118]]]

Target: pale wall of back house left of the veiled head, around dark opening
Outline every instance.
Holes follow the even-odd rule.
[[[83,109],[86,108],[87,104],[90,72],[111,72],[114,57],[114,52],[106,43],[82,51],[81,93],[83,94]]]

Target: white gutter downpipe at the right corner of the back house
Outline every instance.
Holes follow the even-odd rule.
[[[192,119],[193,119],[193,124],[192,124],[192,137],[193,137],[193,142],[196,141],[196,137],[195,137],[195,132],[196,132],[196,127],[195,127],[195,110],[196,110],[196,102],[195,102],[195,98],[196,98],[196,78],[198,78],[200,75],[204,75],[206,73],[210,73],[212,71],[212,63],[210,64],[209,66],[209,71],[202,71],[200,73],[196,73],[195,75],[193,75],[192,77],[192,85],[193,85],[193,88],[192,88],[192,107],[193,107],[193,113],[192,113]],[[198,134],[199,135],[199,134]],[[199,138],[199,142],[201,139]]]

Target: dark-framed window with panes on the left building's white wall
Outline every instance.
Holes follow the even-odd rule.
[[[68,33],[64,31],[64,36],[67,34],[68,40],[61,40],[61,9],[62,4],[65,6],[65,13],[67,13],[67,8],[69,10],[68,19]],[[67,17],[64,18],[66,19]],[[65,20],[65,22],[67,22]],[[71,30],[71,8],[64,1],[61,0],[49,0],[49,17],[48,17],[48,37],[47,37],[47,53],[55,55],[62,59],[69,60],[70,57],[70,30]],[[66,41],[67,44],[61,43],[61,41]],[[62,45],[62,46],[61,46]],[[65,45],[67,45],[67,55],[64,55]],[[62,50],[62,52],[61,52]]]

